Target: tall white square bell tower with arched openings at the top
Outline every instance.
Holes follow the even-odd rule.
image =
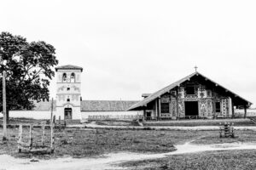
[[[57,77],[56,119],[81,120],[82,67],[63,65],[55,68]]]

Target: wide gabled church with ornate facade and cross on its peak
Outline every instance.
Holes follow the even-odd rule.
[[[246,116],[252,105],[198,71],[143,97],[128,111],[143,111],[148,120],[234,117],[234,106],[244,109]]]

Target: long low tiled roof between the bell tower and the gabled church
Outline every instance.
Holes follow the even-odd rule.
[[[139,101],[122,100],[83,100],[81,111],[126,111]]]

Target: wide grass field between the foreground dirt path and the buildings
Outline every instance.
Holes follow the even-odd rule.
[[[3,129],[0,129],[0,134]],[[9,128],[9,141],[0,142],[0,154],[12,156],[32,156],[17,153],[18,128]],[[25,141],[28,127],[24,129]],[[154,131],[154,130],[88,130],[66,129],[55,133],[55,153],[43,158],[74,156],[89,157],[120,151],[166,153],[175,150],[174,144],[183,144],[195,139],[195,144],[219,144],[226,142],[256,142],[256,132],[236,131],[236,139],[220,139],[218,131]],[[35,128],[34,140],[39,143],[41,129]],[[49,129],[46,130],[49,144]],[[2,135],[0,135],[2,138]]]

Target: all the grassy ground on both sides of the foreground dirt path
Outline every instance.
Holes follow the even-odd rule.
[[[192,122],[179,121],[175,123],[197,125],[209,123],[218,125],[216,120]],[[222,120],[224,121],[224,120]],[[226,121],[226,120],[225,120]],[[247,119],[231,120],[241,126],[247,125]],[[16,123],[31,123],[31,120],[13,120]],[[32,120],[33,123],[38,123]],[[173,123],[174,123],[173,122]],[[130,126],[132,122],[98,122],[108,125]],[[127,123],[129,125],[127,125]],[[157,125],[170,122],[148,122]],[[160,126],[162,126],[162,124]],[[155,125],[156,126],[156,125]],[[28,140],[28,127],[24,127],[24,139]],[[176,150],[174,145],[184,144],[192,141],[193,144],[222,144],[222,143],[256,143],[256,132],[236,130],[235,139],[219,138],[218,131],[183,131],[183,130],[121,130],[121,129],[87,129],[87,128],[66,128],[61,132],[55,132],[55,152],[52,155],[32,155],[17,152],[18,128],[8,128],[9,140],[0,140],[0,154],[8,154],[15,157],[38,157],[51,159],[64,156],[73,157],[97,157],[113,152],[137,152],[137,153],[167,153]],[[34,141],[39,144],[42,131],[35,127]],[[0,128],[0,139],[2,139],[3,128]],[[49,144],[49,129],[46,129],[46,144]],[[255,169],[256,150],[225,150],[205,151],[183,155],[167,156],[165,158],[143,161],[129,161],[122,163],[122,167],[128,169]]]

